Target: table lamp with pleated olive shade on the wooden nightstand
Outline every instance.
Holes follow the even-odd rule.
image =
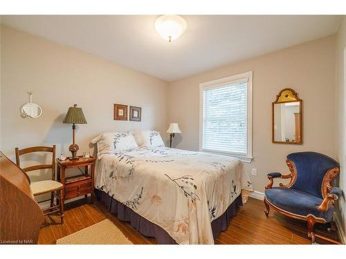
[[[74,104],[73,107],[69,108],[67,111],[64,121],[62,123],[72,124],[72,141],[73,144],[69,146],[69,151],[72,153],[72,160],[78,160],[77,151],[79,148],[78,144],[75,144],[75,124],[86,124],[86,119],[84,117],[82,108],[77,107],[77,104]]]

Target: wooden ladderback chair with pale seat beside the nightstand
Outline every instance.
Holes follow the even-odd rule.
[[[51,193],[51,206],[47,209],[43,209],[44,215],[59,212],[61,222],[64,223],[64,193],[62,189],[64,185],[60,182],[55,181],[55,145],[51,146],[33,146],[30,148],[19,149],[15,148],[16,151],[16,163],[17,166],[21,167],[20,156],[34,152],[48,152],[52,153],[52,164],[39,164],[35,166],[28,166],[21,168],[25,173],[41,169],[51,169],[52,177],[51,180],[43,180],[38,182],[30,182],[30,189],[33,192],[34,197],[42,195],[44,193]],[[55,204],[55,198],[57,203]],[[46,200],[42,201],[46,202]],[[38,203],[42,203],[38,202]]]

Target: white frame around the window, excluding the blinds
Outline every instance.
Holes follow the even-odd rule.
[[[203,90],[208,88],[217,88],[228,84],[237,84],[239,82],[243,82],[244,80],[248,82],[246,155],[237,155],[236,153],[231,152],[203,149]],[[248,163],[253,160],[253,71],[199,84],[199,151],[229,155],[231,157],[237,157],[239,160]]]

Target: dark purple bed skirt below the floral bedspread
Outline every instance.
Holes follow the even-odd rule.
[[[111,213],[117,215],[120,220],[129,222],[131,227],[142,235],[156,238],[158,244],[176,244],[176,241],[163,228],[141,217],[125,204],[104,193],[104,191],[95,189],[95,195],[98,200],[107,206]],[[212,236],[214,236],[214,239],[219,236],[221,231],[227,229],[230,219],[237,214],[237,209],[242,204],[242,195],[239,195],[226,209],[224,214],[212,221]]]

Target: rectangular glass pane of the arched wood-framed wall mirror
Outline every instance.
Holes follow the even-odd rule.
[[[299,143],[300,139],[300,102],[274,104],[275,142]]]

